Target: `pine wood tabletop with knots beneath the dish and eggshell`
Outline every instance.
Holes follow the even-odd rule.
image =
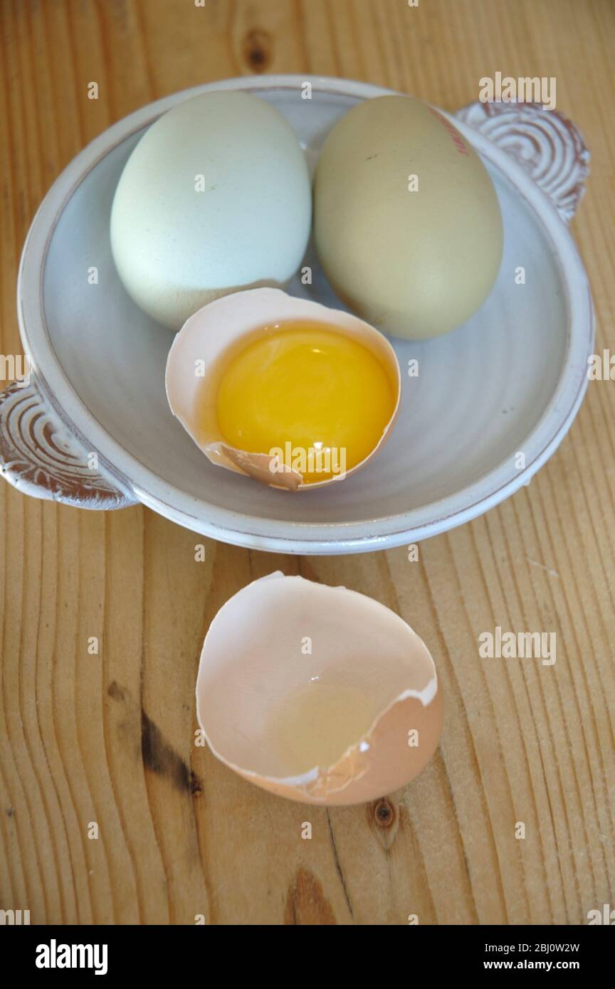
[[[28,226],[70,158],[144,103],[254,72],[364,79],[449,110],[496,71],[556,76],[593,152],[573,232],[596,349],[615,343],[609,0],[6,0],[0,36],[3,354],[20,352]],[[0,908],[37,924],[580,924],[615,905],[614,450],[615,384],[593,382],[531,486],[421,544],[419,563],[215,542],[196,563],[201,538],[144,508],[0,485]],[[373,595],[433,650],[440,750],[378,806],[289,803],[193,744],[208,624],[275,569]],[[480,662],[495,625],[556,631],[557,665]]]

